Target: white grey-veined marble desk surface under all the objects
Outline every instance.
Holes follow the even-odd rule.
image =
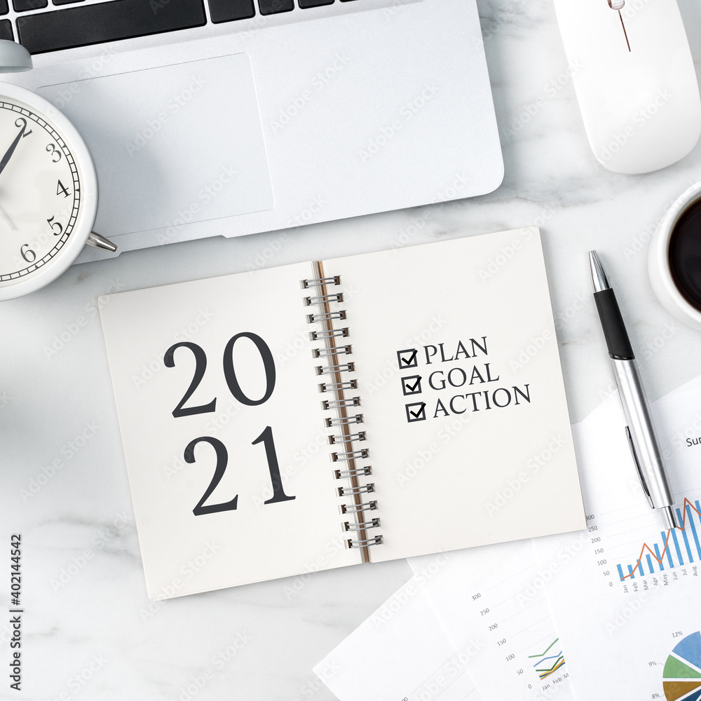
[[[150,604],[95,313],[111,286],[244,271],[273,247],[267,264],[278,266],[538,224],[573,421],[611,390],[592,248],[617,285],[650,399],[701,372],[701,335],[662,310],[646,273],[649,232],[701,177],[701,145],[653,175],[607,172],[587,147],[550,1],[479,7],[505,157],[495,193],[296,229],[282,242],[268,233],[125,253],[73,266],[48,289],[0,305],[0,608],[8,608],[8,536],[21,532],[26,611],[21,694],[8,689],[9,616],[0,618],[1,698],[187,701],[199,679],[198,701],[328,701],[311,667],[410,576],[402,561]],[[701,6],[680,7],[698,70]],[[65,347],[49,356],[66,331]],[[54,461],[55,474],[30,493]]]

